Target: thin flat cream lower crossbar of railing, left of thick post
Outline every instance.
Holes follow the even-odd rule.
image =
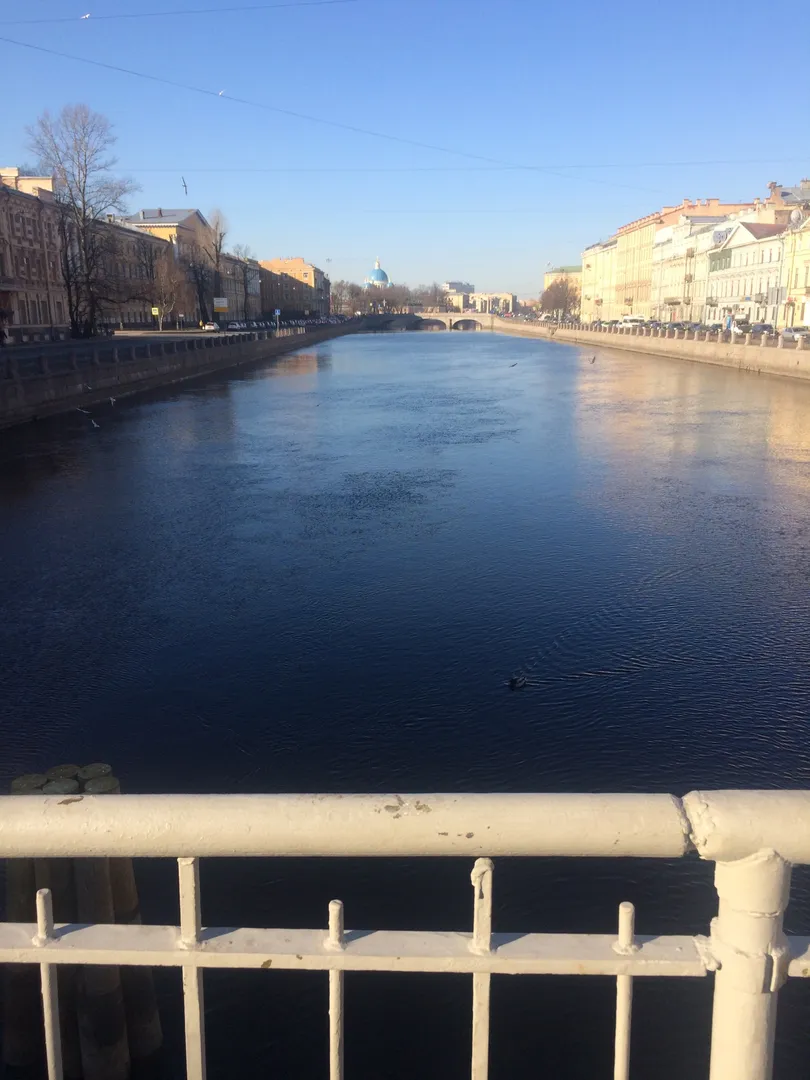
[[[700,976],[708,964],[705,941],[687,936],[640,936],[636,951],[621,954],[610,934],[492,934],[491,953],[480,954],[472,934],[435,931],[347,931],[342,949],[325,930],[206,928],[192,948],[177,927],[62,924],[44,946],[33,945],[35,933],[33,924],[0,923],[0,962],[638,976]]]

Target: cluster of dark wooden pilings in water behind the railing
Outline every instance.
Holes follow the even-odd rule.
[[[104,762],[59,765],[26,773],[11,795],[118,795]],[[37,889],[50,889],[55,922],[139,923],[131,859],[14,859],[6,861],[5,918],[36,922]],[[59,1025],[65,1080],[130,1080],[148,1067],[163,1034],[150,968],[59,966]],[[3,970],[3,1064],[11,1075],[35,1075],[43,1056],[42,1000],[37,964]]]

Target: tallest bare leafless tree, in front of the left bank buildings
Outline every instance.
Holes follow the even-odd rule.
[[[28,136],[41,172],[55,178],[70,333],[90,337],[109,294],[105,273],[114,261],[114,238],[103,222],[108,214],[124,211],[126,198],[137,186],[113,175],[112,126],[86,105],[68,105],[58,117],[43,112],[28,129]]]

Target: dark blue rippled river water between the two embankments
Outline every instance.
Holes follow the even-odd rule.
[[[400,334],[93,413],[0,433],[4,783],[102,759],[129,792],[810,786],[810,387]],[[172,868],[138,872],[175,921]],[[322,926],[338,895],[349,927],[464,929],[469,872],[211,861],[203,918]],[[706,932],[715,904],[697,860],[500,860],[495,894],[516,931],[609,932],[627,899],[642,933]],[[703,1075],[711,980],[636,988],[637,1075]],[[325,994],[206,975],[210,1076],[324,1076]],[[612,995],[496,980],[491,1076],[609,1076]],[[782,1078],[807,1000],[781,996]],[[469,1007],[469,980],[350,976],[348,1075],[464,1076]]]

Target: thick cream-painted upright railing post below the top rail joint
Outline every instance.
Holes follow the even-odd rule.
[[[770,1080],[777,991],[789,955],[782,916],[791,865],[775,851],[717,863],[712,920],[715,974],[710,1080]]]

